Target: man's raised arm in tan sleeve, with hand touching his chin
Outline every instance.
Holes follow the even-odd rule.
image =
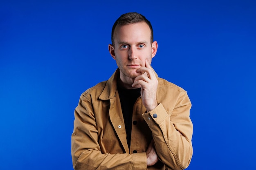
[[[166,96],[161,101],[164,105],[157,104],[158,80],[147,61],[145,66],[137,70],[141,75],[135,78],[132,86],[141,86],[142,102],[148,111],[142,116],[152,131],[157,155],[171,169],[185,169],[189,166],[193,152],[193,125],[189,118],[191,102],[183,90],[172,92],[177,94],[162,94]],[[164,106],[168,108],[168,113]]]

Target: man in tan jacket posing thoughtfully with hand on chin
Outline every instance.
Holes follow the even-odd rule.
[[[117,70],[85,91],[75,109],[74,169],[185,169],[193,152],[191,102],[150,66],[157,52],[150,22],[138,13],[121,15],[108,49]]]

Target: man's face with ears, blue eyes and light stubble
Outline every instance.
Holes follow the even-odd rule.
[[[145,60],[151,64],[157,51],[157,42],[150,42],[151,31],[146,22],[117,26],[114,32],[115,46],[109,51],[120,69],[120,78],[134,79],[141,73],[136,70],[145,67]]]

